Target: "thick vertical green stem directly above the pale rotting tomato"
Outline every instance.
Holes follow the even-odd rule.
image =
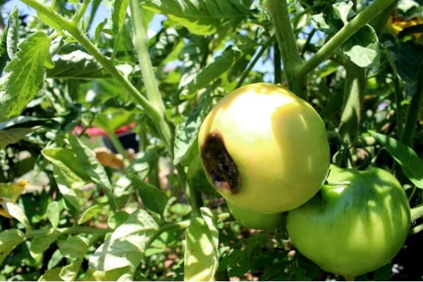
[[[299,76],[297,70],[302,66],[302,59],[290,23],[288,3],[286,0],[267,0],[267,8],[274,21],[276,39],[278,39],[279,49],[281,50],[288,87],[298,97],[307,99],[306,76]]]

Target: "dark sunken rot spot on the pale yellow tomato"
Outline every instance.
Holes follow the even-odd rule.
[[[214,188],[231,194],[239,192],[240,174],[219,131],[214,130],[207,136],[200,149],[200,157]]]

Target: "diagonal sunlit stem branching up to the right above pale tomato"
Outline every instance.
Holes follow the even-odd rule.
[[[336,49],[341,45],[357,30],[360,30],[366,23],[369,23],[374,17],[376,17],[381,11],[393,4],[396,0],[374,0],[370,6],[361,11],[355,18],[350,20],[349,23],[344,25],[341,30],[336,32],[326,44],[324,44],[319,51],[317,51],[310,59],[305,61],[302,66],[298,69],[298,77],[302,78],[307,75],[314,68],[317,68],[321,62],[327,59],[333,54]]]

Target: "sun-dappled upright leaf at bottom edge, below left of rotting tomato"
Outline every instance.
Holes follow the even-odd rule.
[[[184,281],[214,281],[219,264],[216,252],[219,237],[215,228],[210,230],[208,221],[201,216],[193,218],[185,233]]]

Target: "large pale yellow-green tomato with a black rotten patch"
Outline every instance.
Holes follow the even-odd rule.
[[[285,88],[240,87],[204,118],[198,135],[207,179],[229,202],[263,214],[304,204],[329,170],[319,114]]]

